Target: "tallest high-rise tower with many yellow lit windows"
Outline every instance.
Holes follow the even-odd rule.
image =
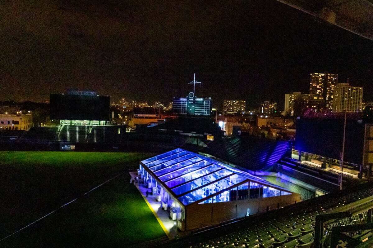
[[[333,92],[338,83],[338,74],[311,73],[310,94],[316,97],[322,96],[326,109],[333,109]]]

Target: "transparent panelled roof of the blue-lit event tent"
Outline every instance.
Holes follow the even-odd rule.
[[[203,203],[247,182],[280,190],[281,194],[294,194],[260,177],[181,148],[140,163],[183,206]]]

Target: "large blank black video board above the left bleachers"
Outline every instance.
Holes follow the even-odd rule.
[[[109,96],[50,95],[51,120],[110,120]]]

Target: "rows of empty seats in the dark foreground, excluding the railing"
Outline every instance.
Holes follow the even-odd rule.
[[[313,247],[316,215],[373,195],[371,184],[344,190],[213,229],[163,247],[189,248],[310,248]]]

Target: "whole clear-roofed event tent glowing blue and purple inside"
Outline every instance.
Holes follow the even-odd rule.
[[[300,194],[181,148],[141,161],[138,172],[182,231],[300,201]]]

